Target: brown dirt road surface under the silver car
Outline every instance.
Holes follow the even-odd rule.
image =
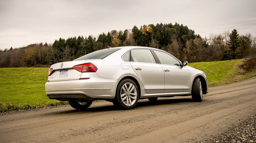
[[[46,95],[45,95],[46,96]],[[191,96],[140,100],[133,110],[111,102],[0,116],[0,142],[199,142],[256,114],[256,78]]]

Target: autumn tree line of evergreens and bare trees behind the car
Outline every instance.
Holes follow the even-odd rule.
[[[97,38],[59,38],[53,44],[31,44],[0,50],[0,67],[32,67],[74,60],[107,46],[146,46],[165,50],[188,62],[241,59],[256,55],[256,37],[239,35],[234,29],[202,38],[183,24],[143,25],[140,28],[101,33]]]

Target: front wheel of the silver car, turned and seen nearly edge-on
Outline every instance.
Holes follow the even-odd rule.
[[[193,85],[192,85],[192,100],[194,102],[202,102],[203,100],[203,89],[202,89],[202,83],[200,78],[196,78],[193,81]]]

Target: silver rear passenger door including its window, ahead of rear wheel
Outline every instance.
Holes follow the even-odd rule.
[[[131,66],[148,93],[164,92],[164,73],[149,49],[131,50]]]

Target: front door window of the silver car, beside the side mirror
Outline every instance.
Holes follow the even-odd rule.
[[[156,56],[158,57],[158,59],[160,60],[161,64],[168,64],[168,65],[179,65],[180,66],[180,62],[175,59],[174,57],[172,57],[171,55],[161,52],[161,51],[156,51],[154,50]]]

